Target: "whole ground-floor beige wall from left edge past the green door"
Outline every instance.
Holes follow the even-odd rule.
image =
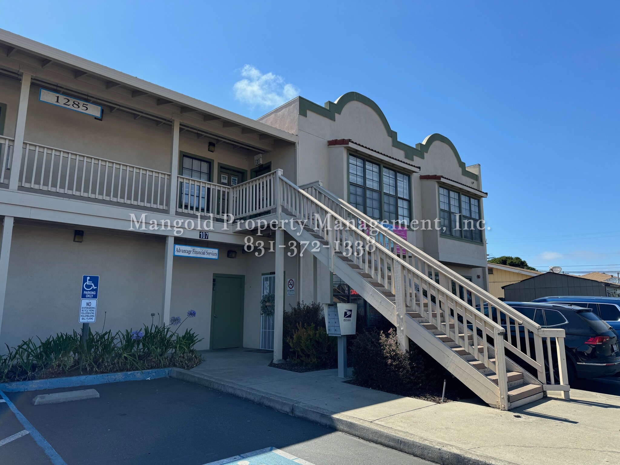
[[[17,221],[0,332],[2,353],[6,352],[5,342],[14,347],[30,337],[45,339],[58,332],[79,332],[78,308],[84,274],[100,276],[97,321],[91,324],[94,331],[102,329],[104,316],[105,330],[116,332],[150,324],[151,312],[161,312],[165,244],[162,237],[86,230],[84,242],[78,243],[73,242],[78,226]],[[288,247],[293,238],[285,234],[285,239]],[[265,237],[266,249],[268,240]],[[184,317],[190,309],[197,312],[180,330],[192,327],[203,338],[197,348],[209,348],[213,274],[244,275],[243,343],[245,347],[259,347],[260,275],[275,270],[275,254],[265,252],[263,257],[256,257],[254,252],[243,254],[240,246],[211,241],[177,239],[177,243],[219,249],[218,260],[174,257],[170,316]],[[229,259],[228,250],[236,250],[236,258]],[[288,249],[285,276],[296,281],[296,293],[285,293],[288,309],[299,298],[297,257],[288,257]]]

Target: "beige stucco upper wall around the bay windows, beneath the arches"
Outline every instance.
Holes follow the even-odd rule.
[[[439,174],[467,187],[482,188],[480,166],[472,165],[466,170],[478,175],[477,180],[465,175],[464,168],[459,164],[458,154],[443,141],[434,141],[430,144],[424,158],[415,157],[412,161],[406,159],[404,151],[393,146],[394,141],[391,135],[388,135],[379,115],[374,112],[373,108],[360,101],[353,100],[345,105],[341,113],[335,113],[335,120],[309,110],[306,117],[298,115],[298,125],[295,128],[293,115],[298,110],[298,99],[294,99],[268,113],[261,120],[281,129],[286,128],[286,130],[298,133],[299,184],[321,180],[327,190],[348,200],[348,153],[369,158],[368,154],[356,153],[356,146],[353,144],[327,146],[327,141],[330,139],[348,138],[396,159],[419,165],[420,174]],[[373,161],[383,162],[387,166],[393,163],[391,159],[381,154],[370,158]],[[420,174],[414,172],[409,172],[409,174],[412,179],[412,219],[418,221],[430,219],[434,228],[434,220],[439,217],[438,183],[420,180]],[[454,187],[451,188],[454,189]],[[480,198],[480,212],[484,218],[482,198]],[[459,263],[465,267],[485,267],[487,255],[484,241],[482,244],[476,244],[440,237],[440,232],[435,229],[409,231],[407,240],[443,262]]]

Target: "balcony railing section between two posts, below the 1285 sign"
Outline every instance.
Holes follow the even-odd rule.
[[[25,142],[20,174],[22,187],[168,208],[170,174],[153,169]]]

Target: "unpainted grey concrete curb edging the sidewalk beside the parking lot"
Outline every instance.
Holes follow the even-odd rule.
[[[278,412],[317,423],[332,430],[347,433],[362,440],[441,465],[515,465],[512,462],[395,430],[394,428],[371,423],[350,415],[334,414],[334,412],[316,407],[316,405],[268,394],[252,387],[213,378],[207,374],[182,370],[181,368],[172,368],[170,370],[170,378],[180,379],[187,383],[198,384],[215,391],[224,392],[224,394],[240,397],[246,401],[270,407]]]

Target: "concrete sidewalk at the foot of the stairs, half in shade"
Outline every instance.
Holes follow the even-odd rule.
[[[246,349],[247,351],[247,349]],[[271,353],[205,351],[172,376],[306,418],[436,463],[620,464],[620,397],[573,389],[502,412],[482,402],[432,402],[342,383],[336,370],[293,373]]]

